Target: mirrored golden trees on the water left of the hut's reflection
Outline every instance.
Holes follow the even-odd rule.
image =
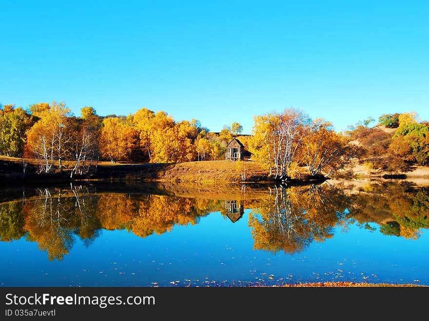
[[[102,228],[127,229],[141,237],[162,234],[175,225],[197,224],[221,204],[167,195],[97,193],[81,186],[38,191],[37,197],[0,205],[0,240],[26,235],[50,260],[67,255],[76,236],[89,246]]]

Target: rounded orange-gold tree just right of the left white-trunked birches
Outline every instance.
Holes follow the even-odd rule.
[[[137,147],[137,137],[138,132],[123,119],[104,118],[99,138],[101,155],[112,163],[129,160],[131,152]]]

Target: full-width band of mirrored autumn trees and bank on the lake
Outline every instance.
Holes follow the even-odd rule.
[[[254,249],[273,253],[301,252],[331,238],[335,227],[347,230],[355,222],[370,230],[375,229],[370,223],[376,223],[381,233],[407,239],[417,239],[421,229],[429,227],[429,189],[407,183],[359,189],[328,183],[265,186],[252,197],[245,188],[212,198],[130,190],[112,192],[91,185],[36,189],[31,196],[0,203],[0,240],[25,237],[49,260],[61,260],[76,238],[90,246],[103,229],[126,229],[144,238],[178,225],[196,225],[212,212],[233,224],[243,219],[245,209]]]

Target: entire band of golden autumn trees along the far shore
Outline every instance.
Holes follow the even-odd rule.
[[[254,116],[252,135],[241,135],[234,122],[221,132],[201,123],[175,121],[172,115],[146,108],[127,116],[99,116],[83,107],[77,117],[63,102],[38,103],[29,108],[0,106],[0,153],[37,159],[39,171],[88,173],[99,160],[176,163],[223,159],[227,143],[239,136],[252,159],[274,179],[299,178],[306,166],[311,175],[330,176],[358,158],[371,168],[405,170],[429,161],[428,123],[416,113],[384,114],[379,126],[368,118],[335,132],[324,119],[302,111]],[[380,128],[396,129],[386,132]],[[71,164],[71,165],[70,165]]]

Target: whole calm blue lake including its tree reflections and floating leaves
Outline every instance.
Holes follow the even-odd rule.
[[[1,195],[2,286],[429,285],[429,189],[407,183]]]

